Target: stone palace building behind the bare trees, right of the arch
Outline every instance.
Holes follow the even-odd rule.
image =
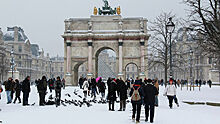
[[[219,82],[219,76],[214,69],[213,56],[209,55],[198,45],[193,38],[194,32],[188,31],[186,28],[180,28],[175,37],[175,45],[173,50],[177,53],[173,55],[174,79],[192,80],[212,80]],[[190,68],[192,75],[190,76]],[[169,70],[168,70],[169,72]],[[161,64],[155,64],[149,70],[150,78],[164,79],[164,67]],[[215,75],[215,76],[213,76]]]

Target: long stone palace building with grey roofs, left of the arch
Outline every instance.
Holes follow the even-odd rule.
[[[8,27],[5,33],[0,30],[0,38],[0,57],[1,61],[4,62],[4,66],[0,65],[2,72],[0,80],[7,80],[8,78],[12,49],[14,51],[15,68],[19,71],[20,80],[23,80],[26,76],[31,76],[32,81],[41,78],[43,75],[47,78],[63,77],[63,59],[60,57],[58,59],[56,59],[57,57],[50,58],[49,54],[45,56],[43,49],[40,50],[37,44],[30,43],[22,28]]]

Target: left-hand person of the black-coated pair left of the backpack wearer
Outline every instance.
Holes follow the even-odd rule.
[[[107,99],[109,100],[109,111],[115,111],[114,104],[116,101],[116,90],[117,90],[117,84],[115,80],[111,80],[111,82],[108,84],[108,97],[107,97]]]

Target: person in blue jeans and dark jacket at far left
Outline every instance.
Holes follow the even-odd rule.
[[[12,78],[9,77],[8,81],[5,81],[3,83],[3,85],[5,85],[5,91],[6,91],[6,95],[7,95],[7,104],[10,104],[12,102],[11,99],[11,91],[12,91]]]

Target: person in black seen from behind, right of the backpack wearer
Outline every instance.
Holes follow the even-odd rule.
[[[150,111],[150,122],[154,120],[155,96],[159,94],[157,88],[153,85],[152,80],[148,79],[147,85],[143,88],[144,103],[145,103],[145,117],[148,121]]]

